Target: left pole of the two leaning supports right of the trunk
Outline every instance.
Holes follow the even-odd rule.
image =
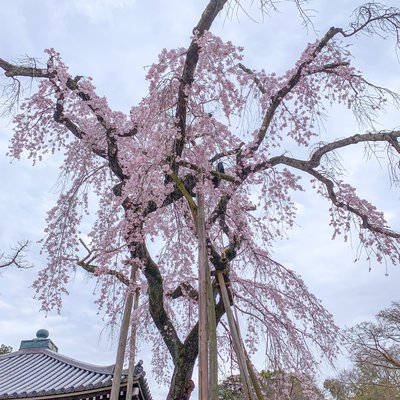
[[[232,335],[233,348],[235,350],[238,365],[239,365],[240,378],[242,380],[243,392],[244,392],[246,399],[253,400],[254,396],[252,393],[252,385],[250,383],[249,372],[247,369],[246,357],[244,354],[244,347],[240,340],[240,336],[238,333],[235,318],[232,314],[228,290],[226,289],[225,279],[224,279],[222,271],[217,271],[217,277],[218,277],[218,283],[219,283],[219,286],[221,289],[222,301],[224,303],[225,312],[226,312],[226,316],[228,319],[229,330]]]

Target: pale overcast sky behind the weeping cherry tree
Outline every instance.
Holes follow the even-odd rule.
[[[280,4],[281,12],[264,19],[243,2],[253,19],[242,12],[222,13],[213,31],[224,39],[245,47],[250,68],[283,73],[293,65],[305,45],[323,35],[330,26],[345,27],[355,0],[315,0],[310,2],[314,29],[305,29],[292,4]],[[386,2],[397,5],[397,0]],[[73,75],[89,75],[99,94],[108,97],[114,109],[128,111],[146,94],[144,67],[156,60],[162,48],[187,46],[192,28],[204,8],[204,0],[13,0],[2,2],[0,14],[0,57],[17,62],[24,56],[45,59],[43,50],[54,47],[61,52]],[[355,65],[380,85],[400,91],[400,64],[393,40],[360,38],[352,51]],[[28,93],[27,93],[28,94]],[[396,115],[397,114],[397,115]],[[398,113],[389,110],[380,119],[381,128],[400,125]],[[359,132],[354,121],[333,110],[325,123],[331,138]],[[93,282],[81,273],[73,280],[71,295],[61,315],[39,312],[29,287],[46,260],[35,244],[43,236],[46,211],[52,206],[57,179],[57,161],[46,160],[31,167],[27,161],[13,162],[6,157],[11,137],[9,118],[0,120],[0,252],[7,252],[18,240],[34,244],[29,253],[34,269],[8,269],[0,276],[0,343],[19,348],[22,339],[46,328],[59,351],[67,356],[95,364],[114,362],[114,347],[105,322],[93,304]],[[346,179],[360,194],[385,211],[391,226],[400,229],[398,209],[400,191],[387,178],[385,163],[363,158],[362,149],[342,153]],[[300,194],[295,197],[299,217],[288,240],[277,244],[276,259],[300,273],[313,293],[334,315],[341,326],[370,319],[391,301],[399,300],[400,270],[391,265],[354,263],[357,243],[331,241],[328,204],[322,199]],[[139,355],[151,382],[153,397],[165,388],[151,378],[148,353]],[[263,365],[260,363],[259,368]]]

